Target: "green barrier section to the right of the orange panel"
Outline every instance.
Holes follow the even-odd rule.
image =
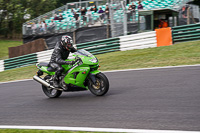
[[[173,42],[200,39],[200,23],[172,27]]]

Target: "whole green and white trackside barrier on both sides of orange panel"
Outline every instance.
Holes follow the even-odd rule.
[[[171,32],[171,31],[170,31]],[[85,49],[92,54],[103,54],[113,51],[125,51],[158,47],[156,31],[120,36],[93,42],[76,44],[77,49]],[[200,24],[191,24],[172,27],[173,42],[190,41],[200,39]],[[164,42],[164,41],[162,41]],[[49,62],[52,50],[36,52],[33,54],[18,56],[6,60],[0,60],[0,72],[16,67],[22,67],[37,62]],[[72,57],[70,54],[69,58]]]

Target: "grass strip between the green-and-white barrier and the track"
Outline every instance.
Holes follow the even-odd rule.
[[[200,41],[97,55],[101,71],[200,64]],[[32,78],[34,66],[0,72],[0,82]]]

